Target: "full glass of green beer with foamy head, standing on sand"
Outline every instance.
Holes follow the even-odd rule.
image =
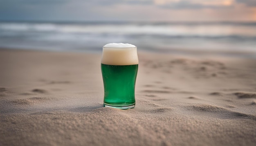
[[[135,106],[138,64],[136,46],[123,43],[103,46],[101,73],[104,84],[104,106],[119,109]]]

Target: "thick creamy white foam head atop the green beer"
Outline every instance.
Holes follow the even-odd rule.
[[[123,43],[106,44],[103,46],[101,63],[107,65],[139,64],[137,47]]]

